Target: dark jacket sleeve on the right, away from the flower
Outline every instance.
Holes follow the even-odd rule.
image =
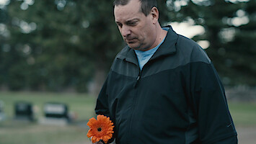
[[[224,86],[211,61],[190,67],[190,95],[202,144],[237,144]]]

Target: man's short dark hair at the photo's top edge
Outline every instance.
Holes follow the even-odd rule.
[[[125,6],[130,1],[133,1],[133,0],[115,0],[113,2],[113,5],[114,7],[119,5]],[[143,12],[145,16],[149,15],[149,13],[151,12],[151,9],[157,6],[156,0],[138,0],[138,1],[141,1],[141,12]]]

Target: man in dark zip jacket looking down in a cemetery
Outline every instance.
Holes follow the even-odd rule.
[[[115,0],[114,15],[127,46],[95,111],[114,122],[115,143],[237,143],[224,88],[204,50],[160,26],[155,0]]]

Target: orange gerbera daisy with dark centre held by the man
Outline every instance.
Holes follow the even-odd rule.
[[[87,132],[87,137],[92,138],[92,143],[96,143],[100,140],[103,140],[104,143],[107,143],[110,138],[112,138],[113,123],[110,120],[110,117],[105,117],[104,115],[98,115],[97,120],[92,117],[87,125],[90,129]]]

